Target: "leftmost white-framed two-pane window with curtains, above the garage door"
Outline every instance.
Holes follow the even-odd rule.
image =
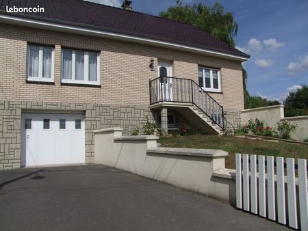
[[[28,44],[27,80],[53,82],[54,48]]]

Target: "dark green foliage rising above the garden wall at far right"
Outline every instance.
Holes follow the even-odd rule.
[[[308,86],[303,85],[296,92],[290,92],[283,102],[285,109],[308,109]]]

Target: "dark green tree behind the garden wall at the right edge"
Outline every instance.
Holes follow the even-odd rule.
[[[283,104],[286,117],[308,115],[308,86],[303,85],[295,92],[290,92]]]

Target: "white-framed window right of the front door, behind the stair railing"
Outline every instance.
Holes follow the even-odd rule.
[[[205,91],[221,92],[220,70],[199,67],[198,83]]]

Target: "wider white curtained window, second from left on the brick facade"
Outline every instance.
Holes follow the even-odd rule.
[[[100,54],[62,49],[62,83],[99,85]]]

